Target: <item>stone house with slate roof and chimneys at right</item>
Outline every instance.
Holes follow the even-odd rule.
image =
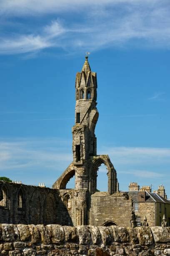
[[[145,216],[149,226],[160,226],[164,215],[167,225],[170,226],[170,201],[167,200],[163,185],[152,193],[150,186],[143,186],[140,189],[136,182],[131,182],[128,195],[133,200],[138,226],[142,225]]]

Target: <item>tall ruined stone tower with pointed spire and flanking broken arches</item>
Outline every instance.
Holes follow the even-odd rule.
[[[105,164],[108,171],[108,193],[111,195],[118,189],[117,176],[109,156],[97,155],[95,136],[95,126],[99,116],[96,108],[97,77],[90,69],[87,56],[81,72],[76,74],[75,97],[75,125],[72,127],[73,161],[53,184],[53,188],[65,189],[67,182],[75,175],[75,191],[81,195],[83,191],[87,191],[92,195],[97,189],[98,168],[101,164]],[[87,197],[85,196],[83,200],[86,201]]]

